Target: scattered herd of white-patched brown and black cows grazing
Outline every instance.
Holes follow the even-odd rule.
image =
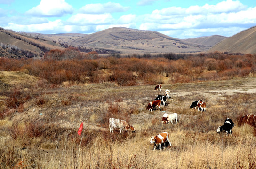
[[[155,86],[155,91],[158,91],[158,90],[161,91],[161,88],[162,88],[161,85],[157,85],[157,86]],[[173,98],[170,96],[170,91],[168,89],[166,89],[165,95],[158,95],[154,99],[154,101],[149,102],[146,109],[152,112],[152,108],[158,107],[159,110],[161,111],[162,102],[163,102],[163,106],[165,106],[167,99],[173,100]],[[192,109],[195,108],[198,111],[206,112],[206,103],[202,100],[193,101],[192,104],[190,105],[190,108],[192,108]],[[254,117],[256,118],[256,116],[253,116],[253,118]],[[178,121],[177,113],[172,113],[172,114],[165,113],[162,116],[162,125],[168,124],[168,123],[169,124],[170,123],[177,124],[177,121]],[[221,131],[225,131],[227,135],[228,134],[232,135],[231,130],[233,127],[234,127],[233,121],[231,119],[227,118],[227,119],[225,119],[224,124],[222,126],[218,127],[216,132],[220,133]],[[110,118],[109,119],[109,130],[112,133],[114,130],[119,130],[120,134],[121,134],[123,131],[133,131],[134,132],[135,128],[124,120]],[[154,150],[155,149],[161,150],[161,146],[163,146],[164,149],[168,145],[171,146],[169,134],[167,132],[162,132],[162,133],[157,134],[156,136],[152,136],[150,139],[150,143],[151,144],[154,143]]]

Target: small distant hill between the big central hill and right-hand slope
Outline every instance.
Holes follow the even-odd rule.
[[[205,37],[199,37],[199,38],[188,38],[184,39],[185,41],[200,44],[200,45],[208,45],[208,46],[214,46],[217,43],[221,42],[227,37],[220,36],[220,35],[212,35],[212,36],[205,36]]]

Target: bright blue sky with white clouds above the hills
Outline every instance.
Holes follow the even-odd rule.
[[[256,0],[0,0],[0,27],[91,34],[111,27],[174,38],[232,36],[256,26]]]

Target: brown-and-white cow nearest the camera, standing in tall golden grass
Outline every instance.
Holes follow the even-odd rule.
[[[158,146],[158,145],[159,145],[159,150],[161,151],[161,144],[164,143],[164,145],[165,145],[165,142],[168,142],[169,145],[172,146],[170,139],[169,139],[169,134],[167,132],[157,134],[155,137],[152,136],[150,139],[150,143],[151,144],[154,143],[154,151],[156,149],[156,146]],[[165,147],[166,146],[164,146],[164,149],[165,149]]]

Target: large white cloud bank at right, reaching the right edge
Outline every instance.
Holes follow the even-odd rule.
[[[206,28],[220,31],[219,28],[225,27],[248,28],[254,26],[256,24],[256,7],[247,8],[239,1],[226,0],[216,5],[163,8],[139,17],[144,17],[139,29],[161,32],[180,32],[181,30],[185,32],[187,29],[189,31],[185,34],[192,35],[191,31]],[[212,33],[209,29],[208,33]],[[220,31],[220,33],[222,32]],[[179,38],[183,35],[177,34],[176,37]],[[230,33],[227,35],[230,36]]]

